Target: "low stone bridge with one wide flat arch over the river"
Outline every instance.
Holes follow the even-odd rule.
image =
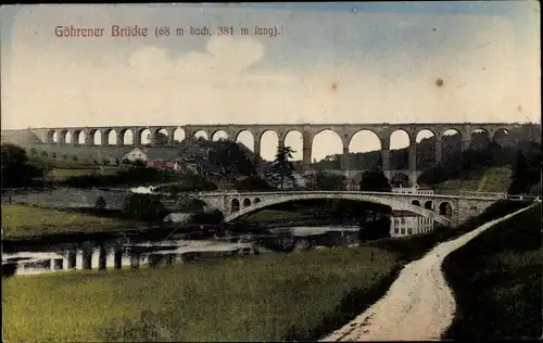
[[[275,204],[299,200],[345,199],[382,204],[392,209],[411,211],[451,227],[456,227],[468,218],[481,214],[501,199],[498,195],[459,196],[353,191],[216,192],[195,193],[192,196],[220,211],[226,223]]]

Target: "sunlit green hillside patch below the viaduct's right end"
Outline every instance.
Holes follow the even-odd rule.
[[[441,191],[478,191],[478,192],[507,192],[510,185],[513,169],[510,166],[493,167],[471,173],[466,179],[447,180],[435,185],[437,193]]]

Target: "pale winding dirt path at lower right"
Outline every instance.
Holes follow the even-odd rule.
[[[456,310],[453,293],[441,271],[443,259],[484,230],[526,209],[441,243],[421,259],[408,264],[381,300],[321,341],[439,340],[451,325]]]

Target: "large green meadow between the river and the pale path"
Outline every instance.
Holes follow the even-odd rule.
[[[13,277],[2,282],[3,335],[9,342],[312,340],[377,301],[383,291],[376,289],[388,288],[399,267],[392,253],[365,247]]]

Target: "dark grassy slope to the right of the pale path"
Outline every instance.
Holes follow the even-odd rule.
[[[540,339],[541,204],[498,224],[449,255],[445,277],[457,313],[445,339]]]

